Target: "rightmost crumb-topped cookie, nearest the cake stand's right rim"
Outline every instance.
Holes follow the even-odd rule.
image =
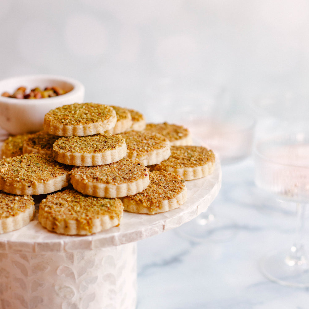
[[[149,168],[150,171],[172,172],[185,180],[192,180],[212,173],[214,165],[214,152],[203,146],[171,146],[171,156]]]

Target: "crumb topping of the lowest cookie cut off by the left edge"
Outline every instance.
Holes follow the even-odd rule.
[[[13,195],[0,192],[0,220],[15,217],[34,205],[30,195]]]

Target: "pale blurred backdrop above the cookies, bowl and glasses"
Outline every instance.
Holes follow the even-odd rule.
[[[70,76],[154,118],[218,89],[248,105],[308,88],[307,0],[2,0],[0,41],[1,79]]]

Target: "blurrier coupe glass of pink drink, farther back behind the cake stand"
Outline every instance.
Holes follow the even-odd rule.
[[[209,105],[187,105],[182,112],[186,118],[179,121],[186,126],[197,143],[212,149],[218,162],[221,163],[222,185],[224,185],[224,168],[237,164],[252,154],[255,130],[255,118],[250,113],[231,111],[222,102],[215,102],[210,110]],[[218,107],[219,104],[219,107]],[[177,232],[194,241],[222,241],[235,234],[235,223],[223,214],[216,214],[220,207],[220,192],[212,205],[197,218],[183,224]]]

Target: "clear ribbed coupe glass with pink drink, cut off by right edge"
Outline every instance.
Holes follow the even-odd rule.
[[[259,139],[254,146],[256,185],[282,202],[294,203],[298,213],[294,243],[263,257],[260,269],[281,285],[308,287],[309,261],[303,236],[309,202],[309,129],[290,128]]]

